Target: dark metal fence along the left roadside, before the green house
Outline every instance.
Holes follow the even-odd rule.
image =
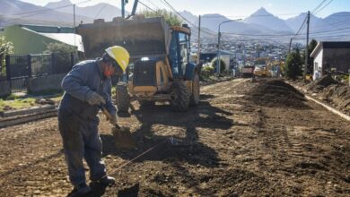
[[[31,77],[68,73],[78,60],[76,53],[8,55],[0,69],[0,81],[8,81],[12,92],[27,91]]]

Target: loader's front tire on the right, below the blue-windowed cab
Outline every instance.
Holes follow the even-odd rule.
[[[185,81],[174,81],[171,84],[171,108],[175,112],[185,112],[189,106],[189,92]]]

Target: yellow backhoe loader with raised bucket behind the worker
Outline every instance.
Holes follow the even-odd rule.
[[[141,105],[169,101],[177,112],[198,104],[200,71],[190,63],[191,31],[187,25],[170,27],[162,17],[136,15],[81,24],[77,31],[85,38],[88,56],[101,56],[101,48],[112,45],[127,48],[129,69],[116,90],[120,112],[127,112],[130,99]]]

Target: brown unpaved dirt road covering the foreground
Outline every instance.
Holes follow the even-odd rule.
[[[120,124],[131,127],[136,150],[117,150],[101,118],[104,160],[117,184],[94,186],[94,196],[350,195],[349,122],[282,82],[209,85],[184,114],[133,107]],[[0,133],[2,196],[71,191],[56,118]]]

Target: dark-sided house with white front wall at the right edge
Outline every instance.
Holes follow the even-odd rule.
[[[328,71],[348,73],[350,69],[350,42],[319,42],[311,53],[313,60],[313,80]]]

